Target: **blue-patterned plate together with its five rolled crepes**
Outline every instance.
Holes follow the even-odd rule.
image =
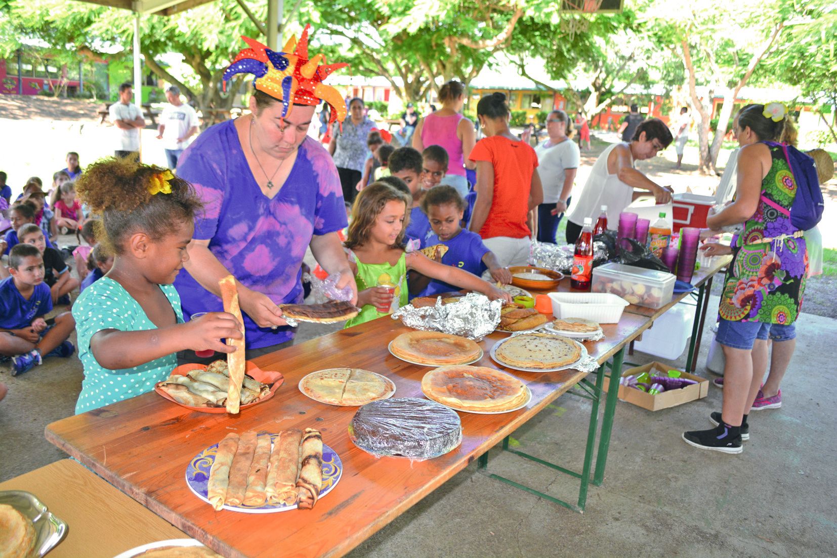
[[[230,432],[193,457],[186,483],[217,511],[272,514],[313,508],[342,473],[340,457],[313,428]]]

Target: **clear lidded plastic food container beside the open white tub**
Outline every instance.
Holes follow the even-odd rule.
[[[608,263],[593,268],[591,292],[610,292],[631,304],[649,308],[671,302],[675,276],[665,271]]]

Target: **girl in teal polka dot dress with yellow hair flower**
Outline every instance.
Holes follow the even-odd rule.
[[[233,315],[183,323],[172,287],[201,208],[192,186],[164,168],[110,158],[86,169],[75,189],[101,218],[96,238],[116,255],[73,306],[85,365],[75,412],[151,391],[177,365],[177,351],[233,352],[221,343],[242,337]]]

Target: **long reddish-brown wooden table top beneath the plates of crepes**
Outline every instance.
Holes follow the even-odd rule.
[[[603,326],[607,338],[588,343],[588,352],[603,363],[649,325],[648,318],[626,313],[620,323]],[[285,385],[272,399],[238,416],[189,411],[148,393],[54,422],[47,426],[46,437],[116,488],[223,555],[275,556],[279,549],[282,555],[343,555],[585,375],[577,370],[540,374],[510,370],[531,389],[532,399],[525,408],[501,415],[460,413],[463,442],[442,457],[424,462],[372,457],[347,436],[356,407],[310,400],[297,384],[317,369],[350,366],[387,375],[397,387],[396,397],[422,397],[421,379],[430,367],[408,364],[387,350],[389,341],[405,331],[409,329],[400,322],[379,318],[255,359],[262,369],[285,375]],[[506,335],[492,333],[480,343],[485,355],[476,364],[498,367],[490,359],[489,349],[501,338]],[[276,432],[306,426],[322,432],[323,441],[337,452],[344,466],[340,483],[314,509],[279,514],[215,512],[187,488],[187,463],[229,431]]]

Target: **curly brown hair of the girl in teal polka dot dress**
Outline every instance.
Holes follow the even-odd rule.
[[[172,233],[177,221],[193,220],[203,207],[192,184],[176,176],[168,181],[171,194],[151,194],[152,180],[167,172],[133,158],[105,158],[76,180],[79,198],[101,218],[95,236],[108,251],[122,254],[125,240],[137,231],[158,242]]]

